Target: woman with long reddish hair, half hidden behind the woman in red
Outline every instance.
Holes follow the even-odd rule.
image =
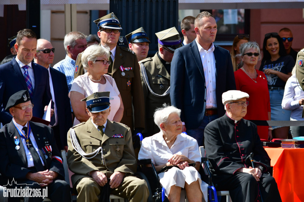
[[[246,43],[249,41],[249,35],[248,34],[239,34],[233,39],[233,44],[231,47],[231,60],[233,65],[233,71],[237,71],[238,65],[241,61],[240,57],[237,57],[238,54],[240,54],[240,45],[243,43]]]

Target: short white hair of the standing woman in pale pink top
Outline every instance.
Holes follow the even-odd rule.
[[[88,68],[88,62],[95,62],[98,57],[105,56],[106,58],[110,57],[110,48],[108,46],[101,45],[90,45],[85,49],[81,56],[81,63],[84,69]]]

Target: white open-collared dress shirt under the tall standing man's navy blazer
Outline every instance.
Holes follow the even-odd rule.
[[[199,55],[201,56],[202,65],[205,74],[206,82],[206,109],[215,109],[216,105],[216,79],[215,79],[215,59],[214,59],[214,45],[211,44],[211,47],[208,50],[203,49],[199,44],[197,39],[195,39],[197,47],[199,49]],[[203,86],[200,86],[203,88]]]

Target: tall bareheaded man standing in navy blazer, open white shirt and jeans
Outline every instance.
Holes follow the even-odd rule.
[[[181,109],[183,131],[203,145],[204,128],[225,113],[222,93],[236,89],[229,51],[213,42],[217,25],[213,15],[195,18],[196,39],[175,50],[171,62],[171,104]],[[185,124],[185,125],[184,125]]]

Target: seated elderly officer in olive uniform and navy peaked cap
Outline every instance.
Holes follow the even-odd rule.
[[[105,185],[111,194],[129,201],[146,202],[149,191],[145,180],[130,176],[136,171],[136,159],[128,126],[107,119],[110,92],[97,92],[86,101],[91,118],[68,132],[67,163],[75,173],[71,177],[77,201],[96,202]]]

